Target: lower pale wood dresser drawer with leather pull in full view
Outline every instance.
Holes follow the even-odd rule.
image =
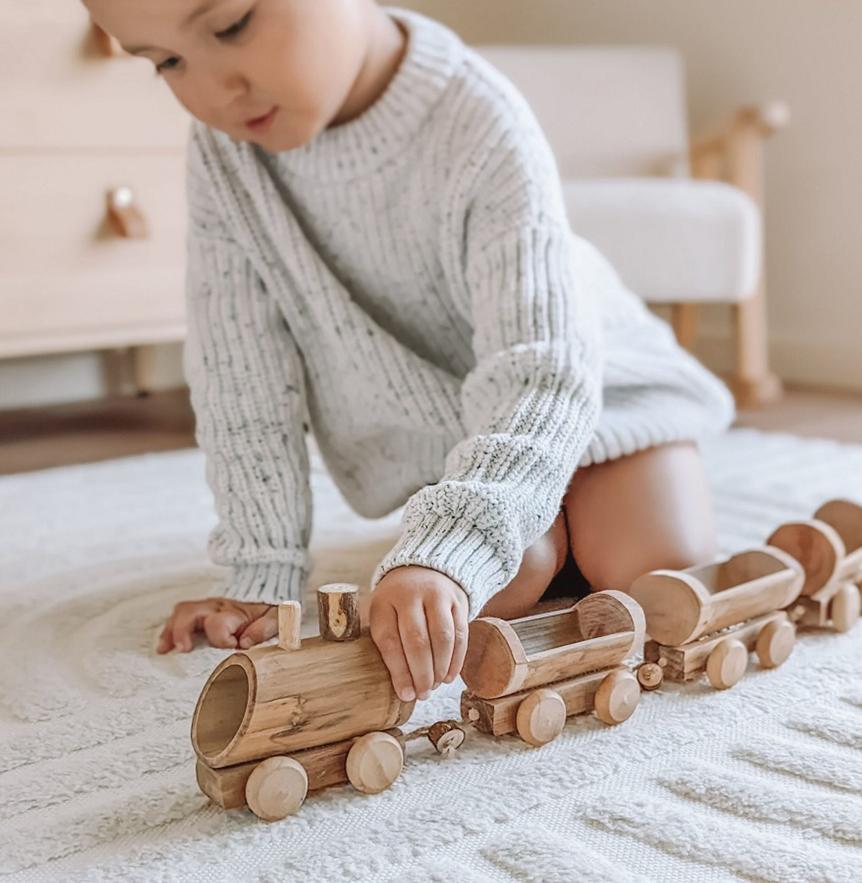
[[[128,186],[147,238],[123,238]],[[176,340],[185,313],[185,155],[0,155],[0,357]]]

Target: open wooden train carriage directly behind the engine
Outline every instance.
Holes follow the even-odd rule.
[[[462,717],[481,732],[517,732],[533,745],[556,738],[571,714],[595,709],[605,723],[621,723],[640,695],[621,663],[643,642],[643,611],[622,592],[516,620],[475,619],[461,670]]]

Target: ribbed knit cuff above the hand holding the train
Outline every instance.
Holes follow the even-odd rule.
[[[522,553],[514,542],[491,541],[475,525],[428,513],[413,521],[396,546],[377,565],[374,586],[389,570],[418,565],[439,570],[467,594],[471,620],[488,599],[509,585],[518,573]]]

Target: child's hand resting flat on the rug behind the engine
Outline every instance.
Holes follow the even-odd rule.
[[[180,601],[165,623],[158,652],[168,653],[177,647],[188,653],[196,631],[204,632],[214,647],[246,649],[278,634],[278,608],[230,598]]]

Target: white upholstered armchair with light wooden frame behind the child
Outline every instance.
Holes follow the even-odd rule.
[[[735,313],[740,407],[781,395],[769,369],[762,140],[785,106],[744,108],[690,144],[682,57],[661,47],[480,46],[553,147],[572,229],[647,302],[672,305],[692,349],[697,306]],[[708,180],[707,180],[708,179]]]

